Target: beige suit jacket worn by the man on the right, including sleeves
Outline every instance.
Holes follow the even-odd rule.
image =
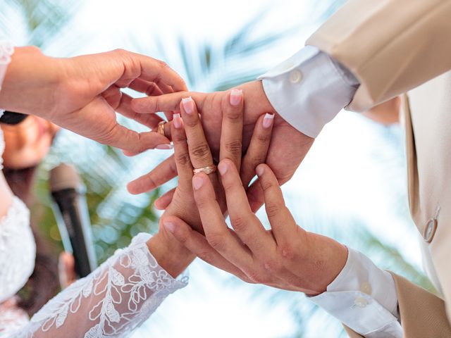
[[[451,337],[451,0],[350,0],[307,44],[357,76],[353,111],[409,92],[409,205],[445,301],[394,275],[402,327],[407,338]]]

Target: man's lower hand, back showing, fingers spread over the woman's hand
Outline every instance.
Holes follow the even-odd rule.
[[[176,217],[163,220],[166,229],[207,263],[247,282],[310,295],[326,291],[345,266],[346,247],[296,225],[268,165],[259,165],[257,174],[271,230],[252,213],[233,163],[221,161],[218,170],[235,231],[224,222],[211,183],[202,173],[194,176],[193,186],[205,237]]]

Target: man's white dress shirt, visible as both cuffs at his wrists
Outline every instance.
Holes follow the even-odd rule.
[[[349,70],[314,46],[259,79],[276,111],[310,137],[318,136],[359,87]],[[393,277],[358,251],[349,249],[345,268],[326,292],[310,299],[364,337],[402,337]]]

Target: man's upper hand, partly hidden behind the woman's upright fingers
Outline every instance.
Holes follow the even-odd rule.
[[[260,81],[247,82],[240,86],[246,98],[243,120],[243,149],[247,149],[249,139],[254,129],[254,125],[263,113],[275,114],[271,144],[268,150],[266,163],[276,174],[279,184],[290,180],[297,167],[309,151],[314,139],[302,134],[294,127],[289,125],[283,118],[274,111],[268,101]],[[137,113],[147,114],[158,111],[176,111],[180,99],[192,96],[197,102],[199,113],[202,115],[202,123],[206,139],[209,142],[214,157],[217,158],[221,130],[221,107],[223,106],[223,97],[228,96],[230,90],[226,92],[214,92],[209,94],[197,92],[178,92],[161,96],[149,96],[146,98],[133,99],[131,107]],[[138,192],[147,192],[159,187],[161,184],[171,180],[177,175],[173,164],[173,158],[169,158],[148,174],[145,184],[142,184]],[[260,184],[254,183],[247,190],[249,203],[253,211],[263,204],[263,192]]]

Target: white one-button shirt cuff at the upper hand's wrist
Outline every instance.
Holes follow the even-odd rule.
[[[349,70],[314,46],[305,46],[259,80],[278,114],[309,137],[318,136],[352,101],[359,85]]]

